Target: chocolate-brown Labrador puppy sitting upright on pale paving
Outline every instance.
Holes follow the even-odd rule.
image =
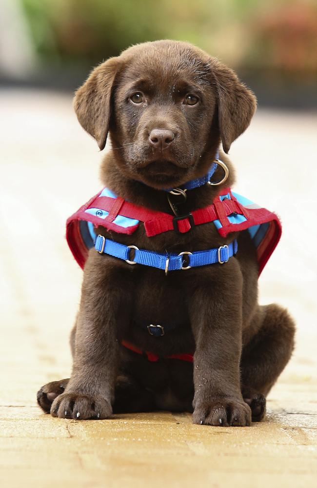
[[[77,91],[74,107],[100,149],[110,133],[102,183],[130,202],[171,214],[163,188],[205,175],[220,141],[227,153],[247,128],[256,99],[232,70],[200,49],[156,41],[100,64]],[[220,158],[229,167],[230,186],[233,169],[223,153]],[[212,203],[220,190],[203,185],[188,191],[182,211]],[[91,249],[71,334],[72,375],[43,386],[40,407],[74,419],[167,409],[194,411],[194,423],[214,426],[261,420],[265,395],[290,359],[295,327],[279,306],[257,303],[258,263],[248,232],[222,238],[213,223],[152,238],[141,225],[132,235],[104,227],[97,232],[140,249],[176,253],[238,238],[238,253],[224,265],[165,276]],[[172,326],[158,338],[143,324]],[[123,347],[122,339],[161,359],[149,362]],[[164,359],[191,351],[194,363]]]

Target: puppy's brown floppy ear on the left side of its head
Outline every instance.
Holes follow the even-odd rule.
[[[77,90],[73,102],[79,123],[96,139],[100,150],[106,145],[111,92],[118,69],[118,58],[100,64]]]

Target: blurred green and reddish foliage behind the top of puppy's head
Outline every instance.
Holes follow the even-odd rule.
[[[316,0],[20,0],[42,62],[87,70],[131,44],[193,42],[240,71],[317,74]]]

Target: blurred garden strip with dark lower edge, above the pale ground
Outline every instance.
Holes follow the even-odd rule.
[[[260,104],[317,106],[316,0],[0,0],[0,82],[74,90],[102,60],[143,41],[193,42]]]

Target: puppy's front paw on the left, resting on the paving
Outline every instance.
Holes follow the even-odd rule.
[[[106,419],[112,414],[110,402],[99,395],[62,393],[51,406],[51,415],[61,419]]]

